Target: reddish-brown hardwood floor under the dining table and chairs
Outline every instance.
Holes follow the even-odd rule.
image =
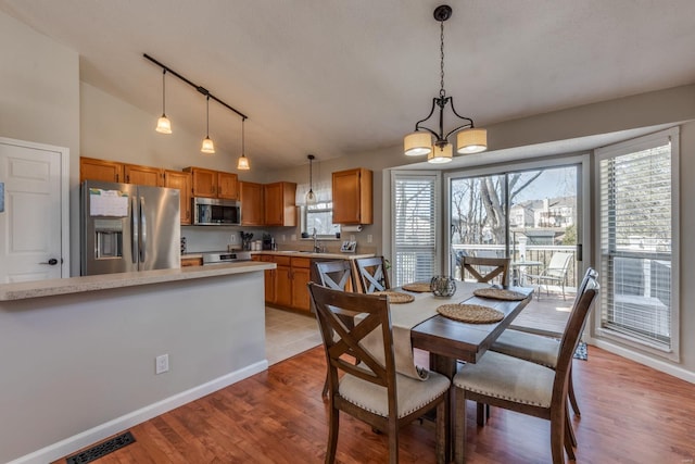
[[[111,463],[320,463],[327,409],[320,398],[323,348],[130,428],[137,442],[98,461]],[[578,463],[693,463],[695,386],[589,348],[574,361],[582,410],[573,417]],[[468,463],[546,463],[549,423],[493,409],[476,426],[469,407]],[[387,438],[341,416],[337,462],[386,462]],[[431,423],[401,431],[401,462],[434,462]],[[55,463],[64,463],[65,460]]]

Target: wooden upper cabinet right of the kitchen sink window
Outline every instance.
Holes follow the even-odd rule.
[[[371,171],[364,167],[333,173],[333,224],[371,224]]]

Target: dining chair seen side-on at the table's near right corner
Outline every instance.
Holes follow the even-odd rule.
[[[466,400],[516,411],[551,422],[553,463],[574,459],[567,428],[570,366],[581,329],[598,292],[596,273],[589,269],[586,285],[574,300],[559,344],[555,369],[488,351],[476,364],[464,364],[453,378],[456,391],[455,461],[465,461]]]

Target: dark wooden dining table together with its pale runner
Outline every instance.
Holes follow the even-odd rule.
[[[401,306],[391,304],[391,324],[394,334],[394,343],[397,343],[396,334],[406,329],[409,330],[409,341],[412,348],[417,348],[429,352],[429,368],[439,372],[450,379],[456,374],[458,362],[476,363],[485,351],[494,343],[500,335],[511,324],[515,317],[529,304],[533,296],[533,288],[529,287],[504,287],[505,290],[519,293],[519,300],[500,300],[482,298],[473,294],[479,288],[490,288],[489,284],[478,284],[469,281],[456,281],[456,291],[452,297],[437,297],[432,292],[412,293],[403,288],[394,291],[412,293],[417,312],[422,312],[424,321],[417,322],[412,316],[403,317]],[[447,303],[466,303],[486,308],[492,308],[503,314],[498,322],[479,324],[466,323],[450,318],[437,312],[437,309]],[[405,305],[403,305],[405,306]],[[405,322],[404,322],[405,319]],[[396,359],[399,355],[396,354]],[[396,360],[397,361],[397,360]],[[409,360],[408,360],[409,362]],[[447,460],[453,456],[453,421],[454,421],[454,389],[450,391],[450,421],[446,424],[445,449]],[[448,462],[448,461],[447,461]]]

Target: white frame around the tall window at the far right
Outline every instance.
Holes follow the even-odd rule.
[[[681,304],[680,304],[680,278],[681,278],[681,269],[680,269],[680,183],[679,183],[679,172],[680,172],[680,128],[672,127],[666,130],[660,130],[658,133],[649,134],[643,137],[637,137],[631,140],[626,140],[623,142],[602,147],[595,150],[595,163],[594,163],[594,185],[595,197],[594,197],[594,234],[596,236],[596,241],[598,246],[595,249],[595,262],[596,267],[599,268],[604,263],[604,250],[601,244],[602,241],[602,198],[601,198],[601,163],[606,159],[612,159],[621,155],[627,155],[630,153],[657,148],[662,146],[666,141],[671,142],[671,287],[670,287],[670,347],[664,348],[657,344],[648,343],[647,341],[641,340],[637,337],[632,337],[628,334],[623,334],[621,331],[611,329],[610,327],[603,326],[603,312],[605,310],[604,305],[607,288],[605,285],[605,278],[607,276],[602,276],[599,272],[599,283],[605,288],[601,293],[601,298],[598,300],[599,306],[596,308],[596,314],[593,317],[594,324],[594,337],[597,339],[604,339],[612,342],[617,342],[619,344],[623,344],[634,349],[635,351],[648,353],[658,358],[668,359],[670,361],[680,362],[680,313],[681,313]],[[615,254],[615,253],[614,253]],[[622,253],[626,254],[626,253]]]

